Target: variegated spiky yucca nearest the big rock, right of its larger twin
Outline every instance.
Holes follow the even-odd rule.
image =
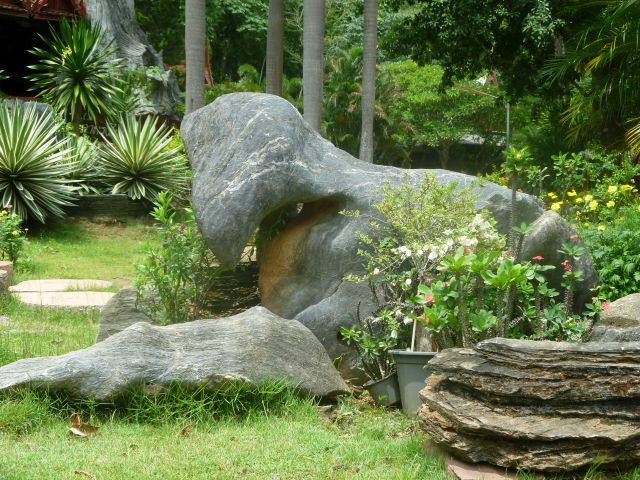
[[[117,127],[107,126],[100,158],[104,181],[112,193],[154,201],[160,192],[176,192],[186,180],[186,162],[178,147],[170,148],[171,130],[156,119],[127,115]]]

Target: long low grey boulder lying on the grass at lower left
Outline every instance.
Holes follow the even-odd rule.
[[[166,327],[136,323],[84,350],[0,367],[0,391],[45,386],[97,400],[139,383],[213,389],[234,380],[284,380],[317,396],[349,391],[307,328],[262,307]]]

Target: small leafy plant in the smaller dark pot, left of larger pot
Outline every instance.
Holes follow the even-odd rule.
[[[363,386],[378,405],[390,406],[400,401],[398,378],[390,351],[406,343],[407,325],[390,307],[383,307],[352,327],[341,327],[342,340],[353,346],[358,364],[369,381]]]

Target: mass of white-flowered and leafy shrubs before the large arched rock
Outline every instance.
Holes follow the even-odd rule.
[[[561,297],[543,275],[554,266],[544,265],[542,257],[520,261],[529,227],[513,229],[507,251],[492,217],[476,213],[466,189],[438,185],[427,175],[415,191],[406,182],[397,189],[385,186],[374,208],[382,220],[370,222],[371,235],[359,233],[365,273],[348,278],[369,283],[381,310],[393,312],[388,318],[398,331],[399,319],[405,325],[420,321],[439,349],[493,336],[578,341],[598,314],[599,299],[588,315],[573,313],[582,247],[572,242],[561,249]],[[373,240],[374,233],[380,240]]]

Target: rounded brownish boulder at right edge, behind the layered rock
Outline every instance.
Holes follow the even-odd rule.
[[[591,342],[640,341],[640,293],[619,298],[600,314]]]

